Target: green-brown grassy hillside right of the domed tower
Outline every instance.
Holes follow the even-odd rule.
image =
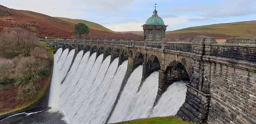
[[[194,38],[200,35],[227,39],[230,37],[256,37],[256,21],[242,21],[188,27],[166,33],[167,39]]]

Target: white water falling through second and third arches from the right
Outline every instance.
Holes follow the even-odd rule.
[[[137,69],[141,72],[137,72]],[[110,118],[110,123],[148,117],[158,91],[158,72],[150,74],[140,91],[136,93],[142,77],[140,74],[142,74],[142,66],[138,66],[128,79],[118,105]]]

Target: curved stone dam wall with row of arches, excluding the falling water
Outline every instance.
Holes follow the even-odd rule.
[[[254,38],[229,39],[219,44],[213,37],[199,36],[184,43],[99,40],[42,40],[97,56],[128,59],[129,74],[143,65],[142,81],[159,70],[158,96],[169,85],[187,80],[186,99],[176,116],[188,122],[209,124],[256,124],[256,45]],[[104,58],[103,58],[104,59]],[[125,85],[126,81],[123,81]],[[118,99],[118,98],[117,98]]]

